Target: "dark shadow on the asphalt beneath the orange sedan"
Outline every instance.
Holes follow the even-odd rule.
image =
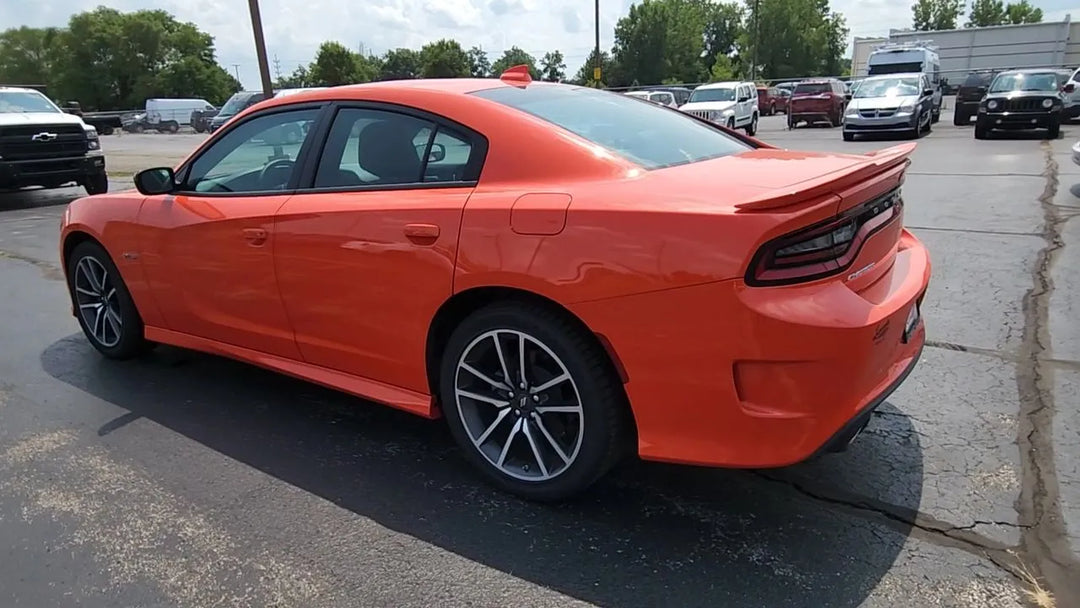
[[[913,513],[921,499],[918,435],[888,403],[853,454],[770,472],[632,462],[578,500],[542,505],[482,483],[440,421],[245,364],[166,347],[112,362],[81,335],[51,344],[41,363],[129,410],[102,435],[149,419],[382,526],[598,606],[859,606],[909,527],[809,498],[807,484],[831,495],[868,481]]]

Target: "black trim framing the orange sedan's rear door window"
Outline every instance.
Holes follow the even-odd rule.
[[[326,143],[329,139],[330,129],[334,126],[334,121],[337,119],[338,112],[343,109],[377,110],[399,113],[434,124],[435,129],[432,130],[431,136],[428,139],[428,148],[424,150],[424,160],[421,165],[420,173],[421,179],[423,172],[428,166],[428,157],[431,153],[431,144],[435,140],[435,135],[437,135],[441,129],[446,129],[454,132],[458,136],[464,137],[471,146],[469,161],[465,163],[465,171],[467,173],[475,172],[476,178],[459,179],[456,181],[416,181],[410,184],[370,184],[362,186],[325,186],[316,188],[315,174],[319,171],[319,164],[322,162],[323,153],[326,151]],[[480,183],[480,179],[484,176],[484,166],[486,165],[488,152],[487,137],[475,129],[448,119],[444,116],[403,104],[350,99],[334,100],[327,104],[324,110],[324,118],[325,121],[320,125],[321,129],[318,133],[314,133],[313,141],[318,144],[318,148],[315,148],[318,152],[309,154],[306,159],[306,164],[300,168],[300,179],[296,187],[296,193],[298,194],[318,194],[321,192],[378,192],[383,190],[475,188]]]

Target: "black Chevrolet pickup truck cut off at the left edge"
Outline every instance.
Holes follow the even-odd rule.
[[[0,189],[109,189],[97,131],[32,89],[0,86]]]

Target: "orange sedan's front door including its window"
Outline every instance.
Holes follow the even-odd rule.
[[[299,359],[274,278],[273,218],[298,178],[318,105],[266,111],[230,125],[177,173],[177,192],[149,197],[138,216],[140,258],[168,329]]]

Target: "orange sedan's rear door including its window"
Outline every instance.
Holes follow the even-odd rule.
[[[428,327],[454,289],[486,143],[406,108],[336,109],[308,190],[278,212],[274,259],[303,359],[427,393]]]

